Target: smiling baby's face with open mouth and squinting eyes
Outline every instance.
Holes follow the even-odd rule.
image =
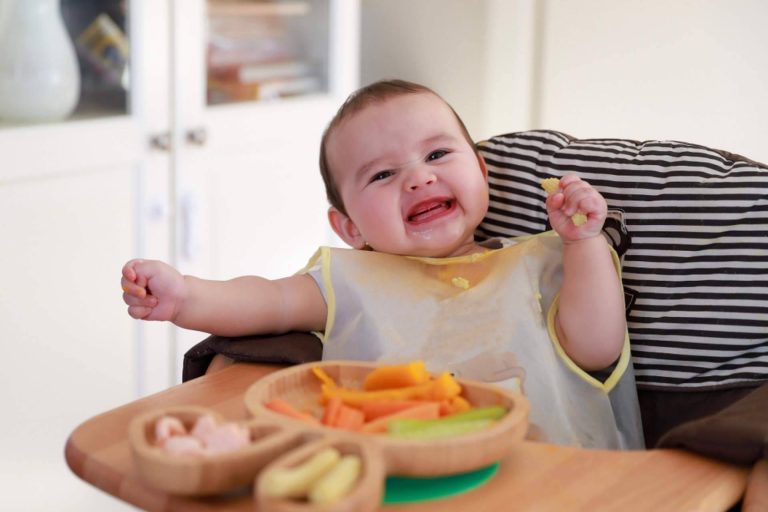
[[[373,103],[337,126],[326,150],[348,214],[334,229],[349,245],[433,257],[475,249],[485,165],[439,97]]]

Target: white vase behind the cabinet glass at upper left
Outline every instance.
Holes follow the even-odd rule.
[[[59,0],[0,0],[0,120],[58,121],[80,97]]]

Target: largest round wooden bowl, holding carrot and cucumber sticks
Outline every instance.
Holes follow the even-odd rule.
[[[443,439],[410,440],[312,426],[264,406],[273,398],[281,398],[299,408],[319,410],[321,383],[312,368],[322,368],[340,386],[360,389],[365,376],[378,366],[360,361],[322,361],[293,366],[270,374],[248,388],[245,405],[252,416],[269,419],[286,428],[325,432],[357,443],[371,443],[381,451],[386,472],[391,475],[439,476],[479,469],[503,458],[525,437],[529,405],[523,395],[461,379],[458,382],[462,396],[473,407],[501,405],[507,408],[507,414],[478,432]]]

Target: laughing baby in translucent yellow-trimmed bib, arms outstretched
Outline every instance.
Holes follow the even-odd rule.
[[[641,446],[621,282],[594,188],[576,175],[560,181],[547,198],[554,232],[477,243],[485,163],[440,96],[399,80],[347,99],[320,167],[330,224],[353,249],[321,248],[277,280],[210,281],[131,260],[129,314],[222,336],[319,331],[325,359],[424,359],[506,386],[524,374],[545,439]],[[588,373],[606,368],[604,380]]]

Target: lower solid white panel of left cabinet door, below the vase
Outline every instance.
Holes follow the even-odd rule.
[[[79,423],[136,396],[135,340],[116,279],[132,251],[132,175],[116,165],[0,186],[8,510],[43,510],[53,496],[60,510],[102,501],[75,484],[61,454]]]

